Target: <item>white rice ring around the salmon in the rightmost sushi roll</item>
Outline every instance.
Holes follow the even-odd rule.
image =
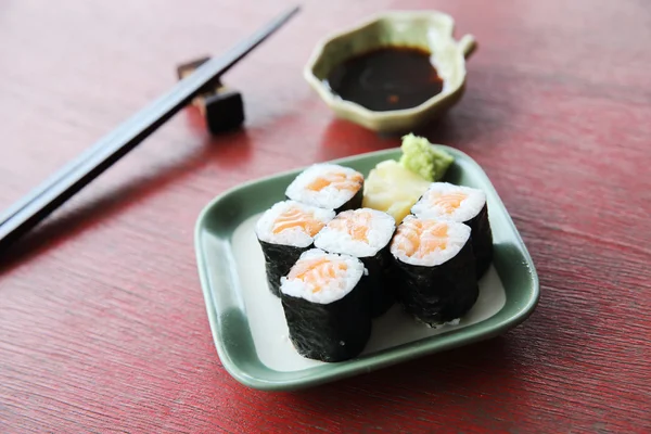
[[[434,197],[441,194],[463,193],[467,197],[452,213],[433,204]],[[420,218],[436,218],[464,222],[475,217],[486,204],[486,193],[470,187],[455,186],[448,182],[433,182],[423,196],[411,207],[411,214]]]

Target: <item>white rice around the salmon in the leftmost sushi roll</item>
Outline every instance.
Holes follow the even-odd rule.
[[[301,227],[285,229],[273,233],[273,224],[290,208],[296,208],[306,215],[311,215],[323,225],[334,218],[334,210],[323,209],[316,206],[305,205],[295,201],[283,201],[267,209],[255,226],[255,233],[261,241],[272,244],[293,245],[295,247],[307,247],[314,242],[314,238]]]

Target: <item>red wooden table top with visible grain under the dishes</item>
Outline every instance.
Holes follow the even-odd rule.
[[[0,3],[0,206],[288,1]],[[0,269],[0,432],[650,432],[651,9],[643,0],[305,1],[226,77],[241,132],[190,111]],[[395,146],[302,79],[326,34],[383,9],[472,33],[465,97],[425,132],[487,171],[534,258],[506,335],[298,393],[248,390],[208,329],[193,225],[215,195]],[[299,151],[299,152],[297,152]]]

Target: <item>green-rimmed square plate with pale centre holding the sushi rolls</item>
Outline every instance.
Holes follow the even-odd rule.
[[[267,289],[254,224],[284,199],[285,188],[302,169],[242,184],[205,207],[195,230],[199,273],[217,353],[232,376],[267,391],[314,386],[496,336],[532,314],[539,296],[538,277],[509,213],[472,158],[441,148],[456,158],[447,181],[486,192],[494,265],[480,282],[477,303],[458,326],[430,329],[396,305],[374,320],[369,344],[353,360],[323,363],[301,357],[288,339],[280,301]],[[394,149],[334,163],[368,175],[378,163],[400,154]]]

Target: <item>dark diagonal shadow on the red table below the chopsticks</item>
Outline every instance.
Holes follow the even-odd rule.
[[[238,151],[231,152],[231,148],[238,148]],[[194,170],[215,163],[218,158],[219,164],[232,166],[245,162],[248,154],[251,154],[251,138],[246,130],[225,133],[219,138],[207,137],[196,148],[180,156],[177,154],[168,158],[171,159],[170,163],[161,162],[144,175],[133,175],[120,186],[84,201],[77,206],[72,207],[69,204],[65,204],[16,241],[9,250],[0,253],[0,275],[10,271],[21,261],[29,260],[48,250],[56,248],[66,239],[92,228],[101,220],[111,218],[137,201],[165,189]],[[237,162],[234,156],[237,156]],[[156,164],[156,162],[152,162],[152,164]],[[92,188],[91,183],[78,193],[79,196]]]

